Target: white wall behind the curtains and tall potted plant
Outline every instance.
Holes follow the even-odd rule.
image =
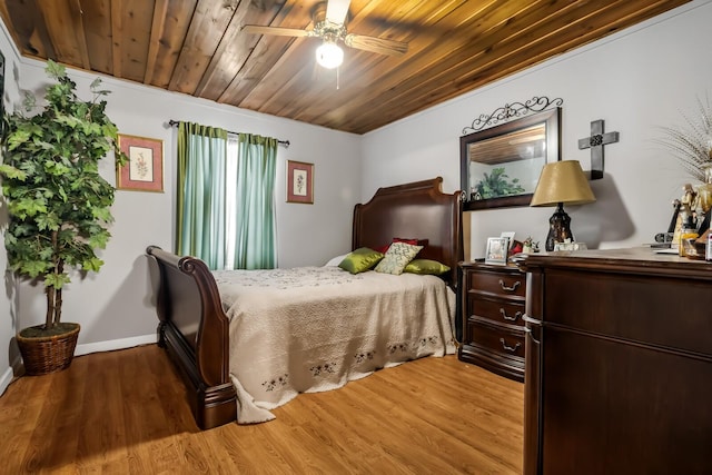
[[[22,60],[21,87],[41,95],[47,83],[44,63]],[[89,98],[96,75],[70,70],[78,92]],[[112,238],[100,254],[100,273],[72,283],[62,293],[62,319],[81,325],[77,355],[155,342],[158,319],[154,308],[146,247],[174,246],[176,128],[170,119],[231,131],[289,140],[279,147],[277,178],[278,264],[280,267],[322,265],[350,249],[353,207],[360,188],[359,136],[240,110],[211,101],[103,78],[107,112],[121,133],[164,140],[164,192],[118,190],[112,214]],[[315,165],[314,205],[285,202],[286,160]],[[113,160],[101,164],[105,178],[116,182]],[[0,253],[4,259],[4,253]],[[18,328],[43,321],[42,288],[20,286]],[[7,304],[1,300],[2,304]],[[3,345],[7,347],[7,345]],[[2,362],[0,360],[0,364]],[[0,366],[6,367],[7,365]]]

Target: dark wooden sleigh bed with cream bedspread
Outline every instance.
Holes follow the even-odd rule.
[[[384,304],[384,308],[379,309],[374,309],[373,306],[367,307],[364,314],[369,317],[364,324],[355,323],[357,319],[353,316],[340,314],[338,319],[325,316],[323,320],[310,323],[309,316],[318,318],[317,313],[313,309],[304,310],[300,307],[301,304],[297,303],[298,294],[294,294],[299,293],[299,289],[291,289],[281,290],[286,296],[279,298],[284,299],[286,305],[281,315],[269,317],[271,319],[260,317],[260,327],[250,330],[244,326],[247,318],[244,314],[253,310],[251,307],[249,307],[250,310],[240,309],[240,306],[247,306],[249,301],[249,298],[241,294],[241,289],[266,285],[273,289],[260,287],[259,290],[271,291],[285,281],[309,283],[309,279],[316,279],[312,284],[300,285],[320,286],[323,287],[320,291],[327,291],[332,283],[323,285],[318,281],[325,271],[332,273],[337,280],[348,281],[349,286],[355,280],[368,280],[370,277],[368,279],[364,277],[379,273],[350,275],[335,266],[319,266],[323,269],[273,269],[274,274],[241,271],[249,273],[249,276],[233,278],[225,273],[211,273],[205,263],[195,257],[176,256],[157,246],[149,246],[147,256],[151,263],[159,319],[158,342],[166,348],[184,379],[188,402],[198,427],[207,429],[233,420],[239,423],[269,420],[273,418],[270,417],[271,408],[285,404],[300,392],[328,390],[340,387],[348,380],[367,376],[382,367],[422,356],[442,356],[445,353],[453,353],[453,346],[456,343],[452,324],[457,314],[453,307],[458,301],[456,298],[457,263],[462,260],[461,192],[444,194],[441,187],[442,178],[437,177],[379,188],[368,202],[355,206],[352,249],[363,247],[376,249],[392,243],[394,237],[417,238],[425,244],[418,258],[436,260],[449,267],[448,271],[438,277],[407,274],[374,276],[386,279],[376,281],[375,285],[378,287],[387,287],[397,280],[414,283],[416,287],[419,285],[422,290],[417,293],[415,301],[396,300]],[[290,273],[301,274],[295,277]],[[248,280],[244,280],[245,278]],[[313,288],[315,287],[310,287]],[[293,293],[291,296],[289,291]],[[228,294],[235,294],[236,300],[227,303]],[[310,294],[310,291],[303,290],[301,294]],[[348,298],[348,291],[342,290],[338,294],[340,298]],[[265,295],[267,294],[263,294],[261,298],[253,299],[279,300],[274,297],[265,298]],[[441,295],[446,296],[445,300]],[[358,301],[362,305],[362,300],[349,301]],[[352,304],[344,303],[319,305],[354,307]],[[429,305],[435,306],[432,311],[423,311],[433,314],[427,317],[427,320],[423,324],[413,324],[414,328],[417,327],[416,329],[411,328],[411,323],[405,324],[411,317],[402,315],[400,307],[412,311],[414,307],[426,305],[427,308],[431,308]],[[447,306],[447,311],[443,310],[443,305]],[[444,316],[445,313],[447,316]],[[380,317],[375,314],[380,314]],[[334,315],[334,311],[327,309],[326,315]],[[294,321],[293,318],[295,318]],[[379,324],[378,318],[384,318],[384,321],[388,323]],[[418,321],[419,318],[421,316],[413,317]],[[330,359],[319,363],[318,358],[315,359],[315,348],[325,342],[327,334],[334,331],[326,329],[319,333],[318,329],[323,329],[322,327],[335,320],[339,328],[357,328],[357,331],[360,331],[359,335],[366,339],[357,344],[346,342],[345,349],[342,350],[343,355],[338,354],[332,342],[326,342],[324,352]],[[299,329],[303,327],[308,328],[300,333]],[[394,334],[387,334],[384,327]],[[278,328],[281,329],[278,330]],[[294,336],[286,338],[285,331]],[[386,334],[380,335],[380,331]],[[312,334],[318,344],[305,343],[306,336],[301,334]],[[414,343],[409,348],[405,348],[406,345],[399,344],[398,338],[413,338],[419,344]],[[376,349],[364,349],[364,346],[376,344],[378,345]],[[307,346],[309,348],[304,349]],[[303,350],[304,356],[297,355]],[[288,354],[290,359],[284,359],[285,354]],[[304,362],[299,358],[304,358]],[[364,366],[354,370],[354,362]],[[263,363],[268,365],[273,373],[266,376],[253,374],[253,367]],[[339,373],[342,364],[352,368],[347,368],[348,374]],[[289,367],[284,369],[279,365]],[[307,375],[308,378],[304,375],[299,376],[301,366],[306,367],[305,372],[310,372]],[[305,378],[312,380],[316,376],[336,379],[319,379],[317,385],[314,382],[303,380]],[[277,389],[281,386],[287,387],[286,392],[278,394]],[[255,393],[260,390],[261,395],[256,396]],[[269,397],[274,398],[267,400]]]

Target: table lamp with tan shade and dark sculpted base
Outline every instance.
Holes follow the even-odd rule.
[[[563,160],[544,165],[530,206],[556,206],[556,211],[548,220],[546,250],[554,250],[555,243],[574,240],[571,218],[564,211],[564,204],[585,205],[595,200],[578,161]]]

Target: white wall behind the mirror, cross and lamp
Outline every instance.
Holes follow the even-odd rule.
[[[605,121],[620,142],[605,146],[605,176],[592,181],[597,201],[566,207],[572,230],[589,247],[651,243],[668,228],[671,202],[690,181],[679,162],[653,140],[660,127],[682,123],[712,93],[712,3],[693,1],[610,38],[461,96],[364,137],[362,199],[380,186],[441,175],[446,191],[459,189],[459,136],[481,113],[534,96],[562,98],[563,159],[591,167],[577,140],[590,122]],[[468,212],[466,256],[482,257],[486,238],[503,230],[531,235],[542,246],[553,208],[500,208]],[[467,246],[469,245],[469,246]]]

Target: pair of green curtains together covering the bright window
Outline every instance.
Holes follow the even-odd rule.
[[[176,254],[198,257],[210,269],[270,269],[277,260],[278,142],[239,133],[237,144],[228,152],[226,130],[179,122]]]

